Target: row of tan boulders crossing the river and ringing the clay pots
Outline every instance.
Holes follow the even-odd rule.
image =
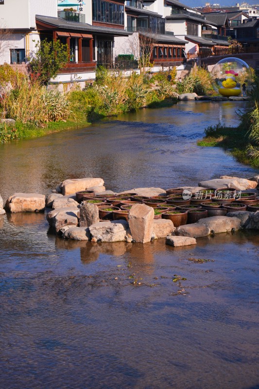
[[[256,190],[258,184],[259,176],[249,179],[223,176],[218,179],[201,181],[199,186],[196,187],[174,188],[174,190],[178,191],[180,196],[182,196],[185,190],[190,195],[190,198],[193,198],[193,195],[197,192],[213,190],[229,190],[230,193],[233,190],[249,190],[250,192],[253,191],[256,197],[258,196],[258,191]],[[78,194],[76,195],[76,193],[80,191],[87,191],[83,201],[77,201]],[[47,213],[47,221],[57,234],[64,239],[90,242],[125,241],[128,243],[148,243],[154,239],[166,238],[166,244],[180,247],[194,245],[197,243],[197,238],[214,235],[215,233],[233,233],[235,230],[241,229],[259,230],[259,211],[239,210],[237,212],[229,212],[226,215],[201,218],[196,223],[186,224],[186,222],[182,222],[182,224],[180,223],[176,227],[173,225],[172,220],[163,218],[163,213],[161,214],[162,218],[155,217],[155,210],[157,211],[159,208],[135,202],[137,200],[141,201],[139,198],[135,200],[135,197],[131,197],[131,201],[126,200],[124,202],[124,205],[131,205],[129,211],[124,211],[125,217],[123,219],[125,220],[100,220],[100,209],[96,203],[100,202],[99,200],[102,196],[104,204],[107,203],[107,207],[111,207],[113,204],[109,204],[109,198],[113,197],[110,198],[112,202],[114,198],[115,200],[117,198],[121,200],[120,197],[123,197],[123,195],[144,196],[143,201],[151,200],[152,198],[154,202],[162,201],[161,206],[166,207],[168,205],[166,201],[163,201],[163,199],[168,200],[167,193],[161,188],[135,188],[116,194],[105,190],[102,178],[80,178],[61,182],[47,198],[45,198],[45,195],[35,193],[15,193],[7,199],[4,207],[5,210],[0,197],[0,214],[5,213],[5,211],[43,212],[45,207],[51,208],[52,210]],[[159,196],[160,200],[156,196]],[[93,203],[88,202],[88,198],[94,199]],[[95,201],[96,199],[97,201]],[[105,202],[106,200],[107,202]],[[172,203],[172,199],[169,200]],[[259,203],[259,197],[255,198],[255,202]],[[122,211],[123,208],[121,210],[118,208],[118,210]],[[112,209],[109,209],[109,211],[112,211]],[[189,210],[186,210],[183,213],[187,214],[188,212]],[[111,216],[112,212],[109,215]]]

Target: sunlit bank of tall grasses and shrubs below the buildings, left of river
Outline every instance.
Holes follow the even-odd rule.
[[[16,124],[0,124],[0,142],[85,127],[144,106],[172,106],[178,101],[178,93],[211,92],[210,75],[202,68],[193,69],[182,83],[175,80],[176,68],[170,76],[168,71],[161,71],[153,76],[133,73],[124,77],[121,72],[112,73],[101,67],[95,82],[86,84],[84,90],[74,83],[69,92],[60,92],[48,90],[7,64],[1,65],[0,114],[2,111],[3,117],[16,120]]]

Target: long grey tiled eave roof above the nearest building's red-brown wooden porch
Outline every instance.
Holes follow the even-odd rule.
[[[77,22],[64,20],[61,18],[53,18],[51,16],[36,15],[35,18],[36,21],[38,20],[39,22],[49,24],[54,28],[58,28],[58,29],[88,31],[91,33],[103,33],[105,35],[110,34],[114,36],[131,35],[131,33],[128,33],[124,29],[119,29],[119,28],[92,26],[91,24],[87,24],[87,23],[77,23]]]

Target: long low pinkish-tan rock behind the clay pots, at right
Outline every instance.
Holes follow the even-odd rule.
[[[257,183],[245,178],[222,176],[221,178],[201,181],[199,182],[199,186],[212,189],[234,188],[238,191],[245,191],[246,189],[256,188]]]

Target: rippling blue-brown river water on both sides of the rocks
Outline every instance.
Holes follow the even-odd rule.
[[[208,125],[236,125],[237,108],[179,103],[0,145],[0,193],[87,176],[115,191],[250,177],[196,146]],[[0,216],[0,388],[258,389],[259,234],[197,242],[64,241],[44,214]]]

